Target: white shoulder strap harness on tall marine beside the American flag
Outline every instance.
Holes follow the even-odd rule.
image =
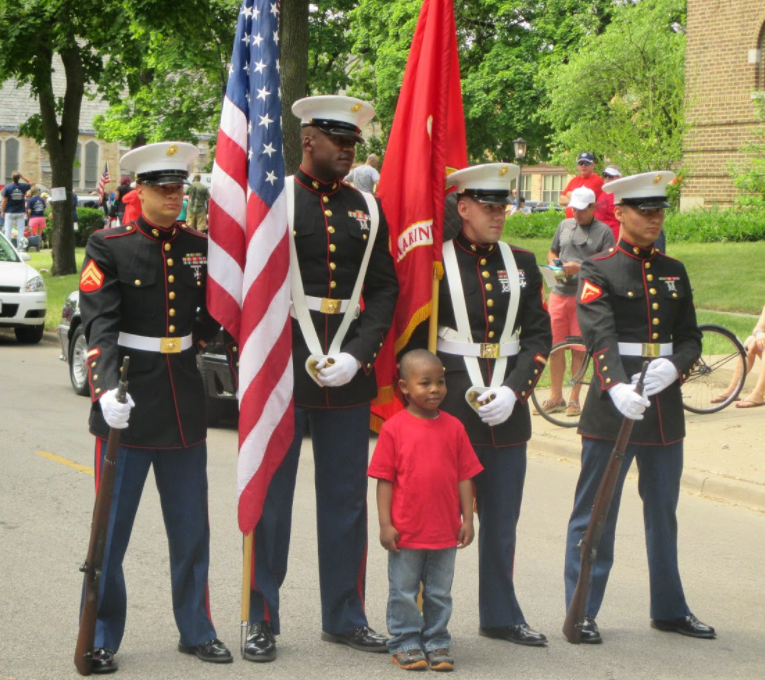
[[[290,239],[290,292],[292,294],[292,309],[294,310],[295,318],[297,319],[300,330],[303,333],[303,338],[308,346],[308,350],[311,354],[323,355],[324,350],[319,336],[316,333],[316,327],[311,320],[311,314],[309,312],[308,300],[305,294],[305,288],[303,287],[303,277],[300,275],[300,263],[297,257],[297,248],[295,247],[295,178],[290,175],[284,181],[284,188],[287,193],[287,222],[289,224],[289,239]],[[364,287],[364,278],[366,277],[367,268],[369,267],[369,258],[372,256],[372,249],[374,247],[375,237],[377,236],[377,228],[380,223],[380,214],[377,210],[377,201],[374,196],[364,191],[361,192],[362,196],[367,202],[367,209],[369,210],[370,226],[369,226],[369,238],[367,240],[367,247],[364,250],[364,257],[361,260],[361,267],[359,267],[359,273],[356,277],[356,283],[353,286],[353,292],[347,302],[343,320],[340,322],[340,327],[335,333],[335,337],[332,338],[332,342],[329,346],[327,354],[337,354],[343,345],[345,340],[345,334],[350,328],[351,322],[357,316],[357,309],[359,301],[361,300],[361,290]],[[321,299],[321,298],[315,298]]]

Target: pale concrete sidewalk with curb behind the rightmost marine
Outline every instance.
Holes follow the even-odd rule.
[[[765,512],[765,407],[731,404],[709,415],[686,413],[685,424],[683,490]],[[579,461],[576,428],[558,427],[538,415],[532,415],[532,426],[529,453]],[[630,474],[637,474],[634,466]]]

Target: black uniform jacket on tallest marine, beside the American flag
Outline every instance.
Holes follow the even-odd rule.
[[[379,201],[378,209],[380,223],[364,279],[362,311],[351,323],[341,347],[341,351],[360,361],[362,368],[341,388],[319,387],[305,370],[311,352],[293,318],[292,359],[298,406],[356,406],[377,396],[374,364],[393,321],[398,298],[398,279],[388,249],[388,223]],[[367,246],[369,225],[367,203],[358,189],[339,179],[322,182],[302,168],[295,173],[295,249],[306,295],[337,300],[351,297]],[[343,315],[311,311],[311,319],[326,354]]]

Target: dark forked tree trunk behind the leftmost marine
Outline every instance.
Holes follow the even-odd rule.
[[[74,220],[72,201],[72,180],[74,157],[77,153],[77,139],[80,132],[80,109],[85,93],[85,78],[78,48],[61,51],[66,73],[66,92],[61,113],[61,124],[56,119],[56,98],[53,94],[51,72],[53,53],[46,55],[43,68],[36,74],[40,98],[45,146],[50,157],[52,183],[54,187],[66,189],[66,200],[51,203],[53,207],[53,276],[64,276],[77,272],[74,257]]]

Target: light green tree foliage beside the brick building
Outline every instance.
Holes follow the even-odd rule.
[[[542,74],[557,161],[573,167],[587,150],[629,175],[681,160],[685,8],[686,0],[621,4],[602,34],[585,36],[568,63]]]

